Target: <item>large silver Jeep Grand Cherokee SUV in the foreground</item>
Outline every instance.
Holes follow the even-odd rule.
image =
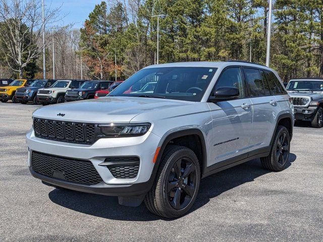
[[[134,92],[154,82],[153,91]],[[46,185],[118,196],[175,218],[201,178],[261,158],[288,162],[293,106],[277,73],[243,62],[142,69],[107,97],[37,109],[29,169]]]

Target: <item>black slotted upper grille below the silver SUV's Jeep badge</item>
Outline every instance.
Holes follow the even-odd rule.
[[[34,118],[35,136],[69,143],[92,144],[95,141],[95,124],[84,124]]]

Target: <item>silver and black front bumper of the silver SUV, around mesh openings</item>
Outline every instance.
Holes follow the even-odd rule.
[[[142,195],[147,193],[152,186],[153,157],[160,141],[160,138],[153,133],[148,132],[139,137],[99,139],[93,145],[81,145],[40,139],[35,137],[33,130],[31,130],[27,134],[26,140],[29,150],[28,166],[31,174],[53,186],[108,196]],[[36,173],[31,165],[32,151],[89,160],[103,182],[88,186]],[[115,178],[109,168],[99,165],[104,162],[105,158],[116,156],[138,156],[140,158],[139,171],[135,178]]]

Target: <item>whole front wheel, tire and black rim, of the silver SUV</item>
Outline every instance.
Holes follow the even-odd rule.
[[[183,146],[170,145],[165,149],[144,203],[151,213],[158,216],[180,217],[192,207],[200,179],[200,165],[195,153]]]

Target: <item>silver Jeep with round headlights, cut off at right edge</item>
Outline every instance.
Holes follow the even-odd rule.
[[[323,79],[302,78],[290,80],[288,94],[293,99],[296,120],[310,121],[312,127],[323,125]]]

